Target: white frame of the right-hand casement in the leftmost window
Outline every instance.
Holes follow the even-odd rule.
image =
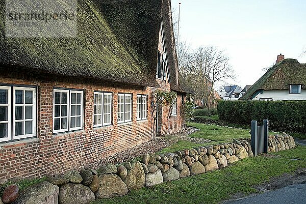
[[[15,91],[23,91],[23,104],[15,104]],[[32,104],[26,104],[25,103],[25,91],[33,91],[33,103]],[[36,89],[35,88],[29,88],[29,87],[21,87],[21,86],[13,86],[13,103],[12,103],[12,109],[13,114],[15,115],[15,106],[23,106],[23,119],[22,120],[15,120],[15,117],[13,116],[12,126],[12,139],[23,139],[28,137],[35,137],[36,135]],[[33,107],[33,119],[25,119],[25,106],[32,106]],[[31,134],[25,134],[25,122],[27,121],[33,121],[33,133]],[[23,122],[23,135],[17,135],[15,136],[15,122]]]

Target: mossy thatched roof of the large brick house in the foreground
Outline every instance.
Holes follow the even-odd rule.
[[[77,38],[6,38],[4,5],[1,0],[1,69],[159,86],[161,0],[78,0]]]

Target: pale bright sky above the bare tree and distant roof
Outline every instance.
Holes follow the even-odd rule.
[[[227,84],[252,85],[280,53],[306,63],[305,0],[171,0],[179,3],[180,41],[224,49],[236,73]]]

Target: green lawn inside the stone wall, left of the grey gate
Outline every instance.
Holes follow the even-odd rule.
[[[200,131],[192,133],[189,135],[189,137],[200,137],[213,141],[224,141],[241,137],[250,137],[249,130],[244,129],[235,129],[200,123],[188,123],[188,126],[200,129]]]

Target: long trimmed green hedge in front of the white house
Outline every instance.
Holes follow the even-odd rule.
[[[220,120],[249,125],[269,120],[270,128],[306,132],[306,101],[220,101]]]

